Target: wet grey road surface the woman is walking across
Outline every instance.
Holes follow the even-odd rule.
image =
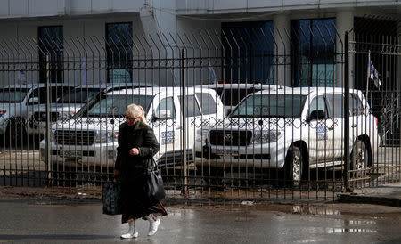
[[[120,240],[120,216],[102,215],[98,201],[54,203],[0,199],[0,242],[23,243],[396,243],[401,209],[366,204],[167,206],[160,230]]]

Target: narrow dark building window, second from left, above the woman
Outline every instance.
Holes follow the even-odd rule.
[[[106,25],[107,82],[132,82],[132,23]]]

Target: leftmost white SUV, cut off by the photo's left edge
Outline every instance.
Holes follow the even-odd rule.
[[[65,84],[51,84],[49,102],[56,102],[73,87]],[[0,92],[0,134],[5,135],[5,142],[20,144],[26,134],[29,113],[46,102],[45,84],[4,86]]]

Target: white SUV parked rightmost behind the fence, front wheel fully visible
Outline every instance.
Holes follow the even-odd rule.
[[[283,169],[298,184],[309,168],[344,158],[344,90],[302,87],[250,94],[228,118],[203,125],[194,146],[199,166]],[[351,169],[372,165],[380,138],[364,95],[349,90]]]

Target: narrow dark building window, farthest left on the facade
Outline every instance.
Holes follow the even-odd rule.
[[[39,27],[39,82],[62,83],[63,36],[61,26]],[[48,65],[47,65],[48,64]]]

